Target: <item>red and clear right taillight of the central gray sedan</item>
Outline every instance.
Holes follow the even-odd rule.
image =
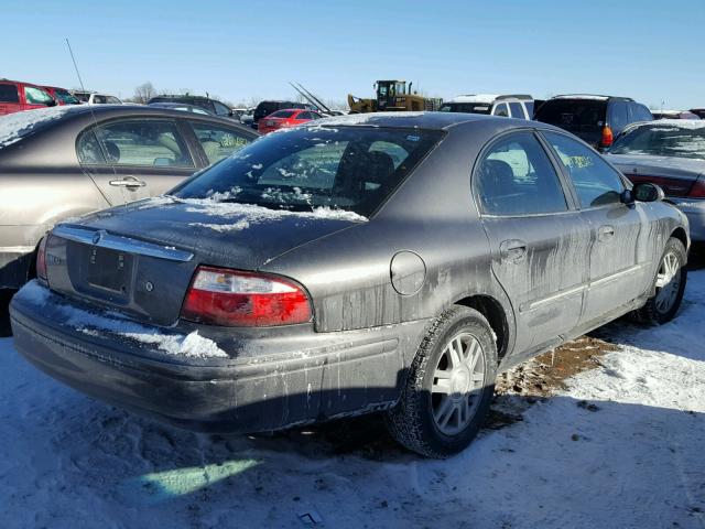
[[[232,327],[292,325],[311,321],[311,303],[300,285],[276,276],[198,267],[181,317]]]

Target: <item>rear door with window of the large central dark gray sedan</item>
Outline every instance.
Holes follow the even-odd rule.
[[[530,354],[578,323],[587,282],[589,229],[535,133],[501,136],[473,177],[492,272],[511,300],[514,350]]]

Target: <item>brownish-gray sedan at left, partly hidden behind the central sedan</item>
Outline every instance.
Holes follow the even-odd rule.
[[[33,276],[58,222],[160,195],[257,137],[229,119],[144,106],[0,117],[0,294]]]

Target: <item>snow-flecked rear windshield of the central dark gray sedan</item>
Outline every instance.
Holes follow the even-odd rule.
[[[181,198],[369,216],[442,131],[312,126],[274,132],[187,181]]]

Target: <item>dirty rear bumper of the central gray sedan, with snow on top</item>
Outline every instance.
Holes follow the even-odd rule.
[[[99,400],[200,431],[278,430],[392,406],[405,375],[394,330],[411,336],[425,323],[330,333],[327,341],[317,333],[262,337],[267,353],[246,338],[227,358],[192,359],[82,332],[75,316],[55,310],[62,296],[37,302],[26,290],[13,299],[11,321],[29,361]]]

